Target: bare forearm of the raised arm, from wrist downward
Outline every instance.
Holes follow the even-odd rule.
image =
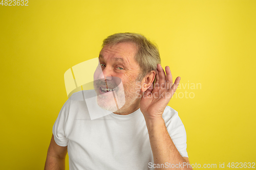
[[[146,119],[148,135],[150,137],[151,149],[154,157],[154,164],[182,164],[186,162],[175,147],[166,129],[163,118]],[[156,168],[157,169],[157,168]],[[159,168],[168,169],[168,168]],[[172,168],[175,169],[175,168]],[[177,168],[181,169],[181,168]]]

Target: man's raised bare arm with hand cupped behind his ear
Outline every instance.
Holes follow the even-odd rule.
[[[182,157],[178,152],[162,118],[164,109],[180,82],[180,77],[178,77],[173,83],[168,66],[165,67],[165,71],[166,75],[161,65],[157,65],[155,87],[147,89],[140,101],[140,110],[144,115],[150,137],[154,164],[168,165],[155,169],[192,169],[183,166],[183,164],[189,163],[188,158]],[[178,166],[170,167],[170,165]]]

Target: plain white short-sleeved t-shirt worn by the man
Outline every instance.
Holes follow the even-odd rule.
[[[62,147],[68,145],[70,169],[154,169],[148,167],[154,159],[140,109],[129,115],[110,113],[91,119],[88,110],[108,112],[101,109],[94,99],[83,100],[84,96],[95,95],[94,90],[74,93],[54,123],[55,142]],[[177,111],[167,106],[163,119],[179,153],[188,157],[186,131]]]

